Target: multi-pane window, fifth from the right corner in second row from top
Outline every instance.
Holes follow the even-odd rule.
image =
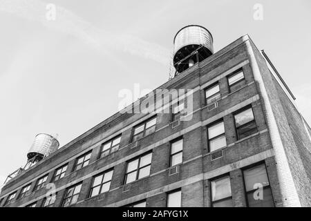
[[[93,178],[90,197],[109,191],[113,171],[102,173]]]

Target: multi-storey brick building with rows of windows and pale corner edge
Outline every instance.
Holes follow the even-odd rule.
[[[192,89],[191,120],[116,113],[12,178],[0,206],[311,206],[311,128],[248,35],[159,88]]]

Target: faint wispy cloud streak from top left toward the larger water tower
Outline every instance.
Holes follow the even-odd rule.
[[[106,50],[106,48],[121,50],[131,55],[152,59],[160,64],[169,64],[170,51],[167,48],[130,35],[113,35],[61,6],[56,6],[55,21],[49,21],[46,19],[47,5],[48,3],[37,0],[0,0],[0,11],[39,22],[47,28],[66,35],[73,35],[97,50]]]

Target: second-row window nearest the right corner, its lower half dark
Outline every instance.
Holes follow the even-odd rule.
[[[238,136],[238,140],[257,132],[252,108],[248,108],[234,115],[234,121],[236,123],[236,135]]]

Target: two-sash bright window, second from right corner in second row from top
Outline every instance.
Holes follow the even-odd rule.
[[[211,125],[207,128],[209,151],[216,151],[219,148],[227,146],[225,136],[225,126],[223,122]]]

